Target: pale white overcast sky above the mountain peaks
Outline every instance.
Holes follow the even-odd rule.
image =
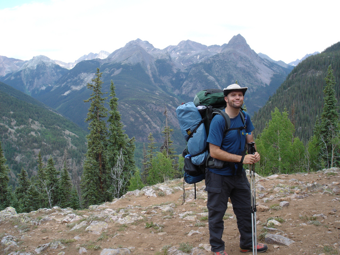
[[[132,40],[164,49],[222,45],[241,34],[286,63],[340,41],[337,0],[0,0],[0,56],[74,62]]]

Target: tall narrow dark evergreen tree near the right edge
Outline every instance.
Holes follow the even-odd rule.
[[[335,165],[336,159],[340,156],[338,153],[340,145],[339,113],[336,106],[335,78],[331,65],[328,66],[325,82],[321,122],[315,125],[314,132],[320,147],[320,162],[324,167],[329,168]]]

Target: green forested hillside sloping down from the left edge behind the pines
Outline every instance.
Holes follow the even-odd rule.
[[[0,82],[0,139],[12,170],[9,184],[17,183],[21,168],[36,174],[39,152],[46,163],[53,156],[58,169],[66,150],[74,182],[79,181],[86,152],[85,132],[70,120],[32,97]]]

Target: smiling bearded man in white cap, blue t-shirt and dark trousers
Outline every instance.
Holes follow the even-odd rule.
[[[206,187],[208,192],[207,207],[209,210],[209,233],[212,251],[216,255],[226,255],[222,234],[224,230],[223,216],[227,210],[228,199],[233,204],[240,232],[240,251],[252,251],[252,223],[250,184],[243,164],[254,164],[260,160],[260,155],[245,155],[245,143],[254,141],[251,132],[254,126],[250,116],[245,112],[243,123],[240,108],[243,105],[244,93],[247,87],[241,88],[232,84],[223,90],[227,103],[225,112],[230,117],[230,130],[224,136],[225,119],[217,114],[210,125],[209,143],[210,155],[214,161],[224,161],[220,168],[209,167],[206,171]],[[217,163],[215,163],[217,165]],[[258,243],[257,252],[267,250],[267,245]],[[227,254],[228,255],[228,254]]]

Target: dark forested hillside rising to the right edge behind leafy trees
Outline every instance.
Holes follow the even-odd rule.
[[[295,126],[295,136],[306,144],[313,134],[316,118],[320,117],[322,112],[324,78],[329,65],[333,69],[337,105],[339,105],[340,42],[320,54],[309,56],[294,68],[276,93],[258,112],[254,113],[252,120],[255,136],[262,132],[271,118],[270,113],[278,107],[280,112],[285,109],[288,111],[289,118]]]

